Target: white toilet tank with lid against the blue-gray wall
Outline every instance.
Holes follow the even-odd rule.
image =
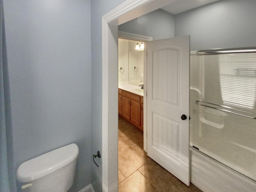
[[[66,192],[73,185],[78,146],[74,143],[20,164],[22,192]]]

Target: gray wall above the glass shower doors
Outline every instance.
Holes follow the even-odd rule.
[[[222,0],[174,16],[175,36],[191,36],[191,50],[256,46],[256,1]]]

